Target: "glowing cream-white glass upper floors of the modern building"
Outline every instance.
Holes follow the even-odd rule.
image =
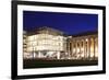
[[[27,37],[27,52],[35,50],[64,50],[64,37],[50,34],[36,34]]]

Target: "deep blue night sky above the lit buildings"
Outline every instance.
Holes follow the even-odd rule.
[[[98,30],[97,14],[58,13],[58,12],[23,12],[24,31],[31,31],[40,26],[49,26],[73,35],[87,31]]]

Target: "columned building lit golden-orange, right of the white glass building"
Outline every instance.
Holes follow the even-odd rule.
[[[72,59],[98,59],[97,32],[74,35],[68,42],[68,53]]]

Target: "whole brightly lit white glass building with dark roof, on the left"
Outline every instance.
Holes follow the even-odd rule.
[[[24,58],[57,58],[66,52],[66,38],[63,33],[47,26],[27,34],[27,53]]]

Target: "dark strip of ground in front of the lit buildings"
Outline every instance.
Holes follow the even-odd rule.
[[[94,66],[98,60],[45,60],[45,59],[24,59],[23,68],[51,68],[51,67],[71,67],[71,66]]]

